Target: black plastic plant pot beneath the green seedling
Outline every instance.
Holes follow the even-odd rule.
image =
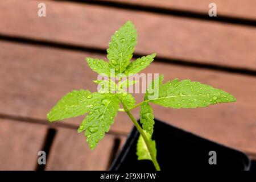
[[[154,171],[150,160],[137,160],[139,133],[134,127],[121,152],[115,158],[113,171]],[[154,134],[157,158],[163,171],[175,170],[249,170],[250,159],[243,152],[198,137],[155,119]],[[217,164],[209,164],[209,152],[216,152]]]

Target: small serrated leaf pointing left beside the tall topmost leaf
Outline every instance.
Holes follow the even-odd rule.
[[[110,76],[110,66],[107,61],[86,57],[89,67],[100,75]]]

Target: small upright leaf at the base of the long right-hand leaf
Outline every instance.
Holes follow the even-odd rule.
[[[146,90],[146,94],[144,96],[144,101],[158,98],[159,96],[159,88],[162,85],[163,82],[163,75],[159,75],[158,78],[153,80],[151,84],[148,86]]]

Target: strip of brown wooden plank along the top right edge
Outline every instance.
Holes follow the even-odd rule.
[[[105,1],[106,0],[97,0]],[[108,2],[119,2],[124,5],[137,5],[137,6],[149,6],[170,9],[170,10],[182,10],[195,13],[203,13],[208,15],[209,4],[213,1],[210,0],[190,0],[190,1],[174,1],[174,0],[107,0]],[[238,18],[256,19],[256,2],[254,0],[215,0],[217,6],[217,16],[234,16]]]

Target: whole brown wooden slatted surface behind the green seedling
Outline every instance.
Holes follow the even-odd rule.
[[[111,1],[152,6],[152,10],[160,7],[206,14],[209,10],[209,1],[201,0],[105,2]],[[121,139],[119,151],[133,126],[125,113],[118,113],[110,133],[94,151],[89,150],[86,138],[76,131],[84,116],[48,123],[46,113],[73,89],[96,91],[92,80],[97,74],[89,69],[85,57],[106,60],[105,55],[89,51],[93,48],[101,52],[108,47],[110,35],[126,20],[133,20],[138,29],[135,53],[158,53],[144,73],[163,74],[164,81],[189,78],[237,98],[236,103],[199,109],[174,110],[154,105],[155,118],[242,150],[256,159],[256,77],[218,68],[256,71],[256,28],[67,1],[46,1],[47,16],[39,18],[39,2],[42,1],[0,1],[0,169],[36,169],[37,152],[42,150],[49,126],[57,133],[50,146],[47,170],[108,169],[115,156],[116,139]],[[253,0],[215,3],[218,15],[256,17]],[[12,37],[31,39],[38,44],[19,39],[6,41]],[[69,47],[42,46],[44,41]],[[84,47],[84,51],[75,51],[76,46]],[[158,61],[158,57],[165,62]],[[197,65],[170,64],[174,60]],[[200,64],[216,68],[203,69]],[[135,94],[135,98],[142,101],[143,95]],[[133,110],[133,114],[139,118],[139,109]]]

